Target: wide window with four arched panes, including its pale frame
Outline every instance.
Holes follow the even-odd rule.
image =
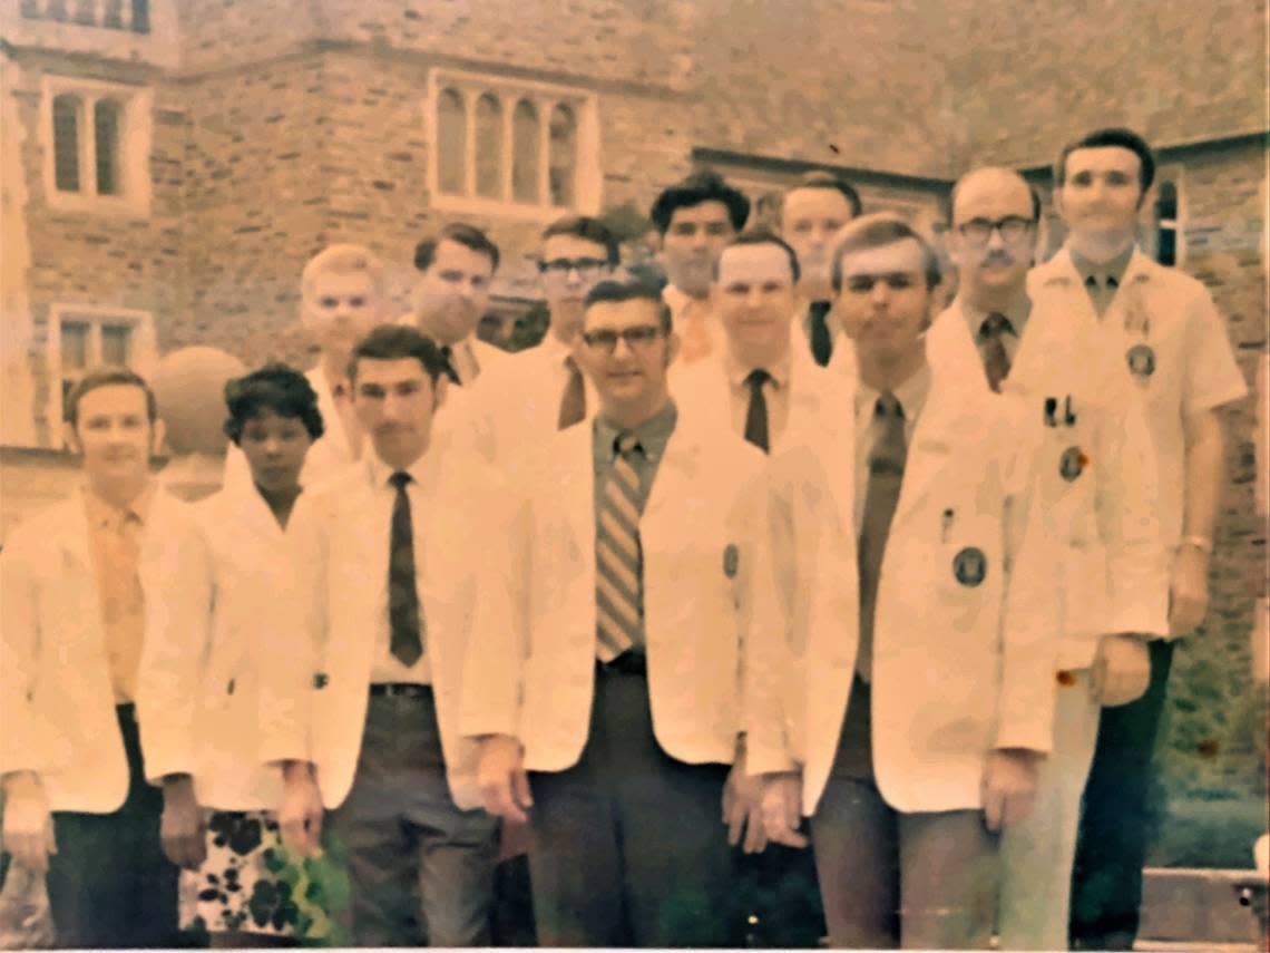
[[[593,94],[437,70],[428,95],[434,206],[530,219],[598,211]]]

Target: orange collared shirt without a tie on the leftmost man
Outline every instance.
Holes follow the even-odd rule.
[[[141,588],[141,535],[145,531],[154,484],[146,484],[127,508],[84,492],[89,544],[105,632],[105,657],[116,704],[136,698],[137,668],[145,645],[145,593]]]

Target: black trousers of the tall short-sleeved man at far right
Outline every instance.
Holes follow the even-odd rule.
[[[1149,648],[1147,693],[1104,708],[1099,720],[1072,870],[1074,949],[1133,949],[1138,935],[1142,865],[1156,826],[1148,794],[1173,643],[1156,640]]]

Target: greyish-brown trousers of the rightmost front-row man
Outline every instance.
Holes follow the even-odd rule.
[[[812,818],[829,944],[979,949],[992,936],[997,837],[982,811],[904,813],[872,774],[870,691],[856,679]]]

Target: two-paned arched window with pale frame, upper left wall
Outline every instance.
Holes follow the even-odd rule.
[[[44,94],[44,180],[50,205],[149,213],[152,91],[46,76]]]

